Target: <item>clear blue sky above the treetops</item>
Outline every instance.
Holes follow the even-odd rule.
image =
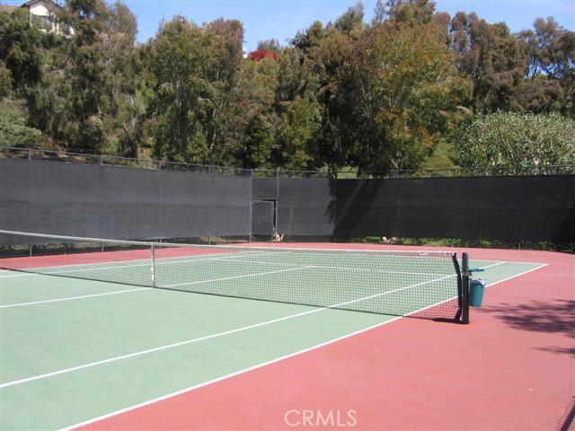
[[[62,0],[63,1],[63,0]],[[22,4],[5,1],[2,4]],[[275,38],[282,45],[312,22],[334,21],[355,0],[124,0],[137,16],[139,42],[154,37],[158,23],[183,14],[201,24],[219,17],[243,22],[244,48],[259,40]],[[371,20],[376,0],[363,0],[366,21]],[[531,28],[535,18],[553,16],[564,28],[575,31],[575,0],[437,0],[436,10],[454,15],[475,12],[487,22],[507,22],[511,31]]]

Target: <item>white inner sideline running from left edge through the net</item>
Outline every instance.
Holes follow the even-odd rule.
[[[332,308],[338,308],[341,307],[342,305],[347,305],[349,303],[358,303],[360,301],[366,301],[367,299],[371,299],[371,298],[375,298],[378,296],[383,296],[383,295],[389,295],[389,294],[393,294],[395,292],[399,292],[405,289],[409,289],[411,287],[417,287],[417,286],[424,286],[424,285],[429,285],[430,283],[435,283],[441,279],[445,279],[445,278],[449,278],[449,277],[456,277],[456,275],[450,275],[450,276],[446,276],[446,277],[441,277],[441,278],[436,278],[433,280],[429,280],[429,281],[425,281],[425,282],[421,282],[418,283],[416,285],[411,285],[411,286],[404,286],[404,287],[400,287],[394,290],[390,290],[387,292],[382,292],[379,294],[375,294],[375,295],[370,295],[370,296],[366,296],[364,298],[359,298],[359,299],[354,299],[352,301],[346,301],[344,303],[336,303],[334,305],[331,305],[329,307],[321,307],[321,308],[314,308],[313,310],[308,310],[306,312],[298,312],[296,314],[290,314],[288,316],[284,316],[284,317],[280,317],[278,319],[272,319],[270,321],[261,321],[260,323],[254,323],[252,325],[249,326],[243,326],[241,328],[236,328],[234,330],[226,330],[224,332],[218,332],[216,334],[211,334],[211,335],[207,335],[204,337],[199,337],[198,339],[187,339],[184,341],[180,341],[178,343],[173,343],[173,344],[168,344],[165,346],[160,346],[160,347],[154,347],[154,348],[148,348],[146,350],[140,350],[138,352],[134,352],[134,353],[130,353],[128,355],[122,355],[122,356],[114,356],[114,357],[110,357],[108,359],[103,359],[101,361],[95,361],[95,362],[91,362],[88,364],[84,364],[84,365],[77,365],[77,366],[73,366],[70,368],[65,368],[62,370],[58,370],[52,373],[47,373],[47,374],[38,374],[38,375],[33,375],[31,377],[26,377],[24,379],[20,379],[20,380],[14,380],[12,382],[7,382],[7,383],[2,383],[0,384],[0,389],[2,388],[7,388],[10,386],[14,386],[17,384],[22,384],[22,383],[28,383],[28,382],[33,382],[33,381],[37,381],[40,379],[46,379],[48,377],[52,377],[54,375],[58,375],[58,374],[66,374],[66,373],[71,373],[73,371],[77,371],[77,370],[83,370],[84,368],[90,368],[92,366],[96,366],[96,365],[102,365],[102,364],[109,364],[111,362],[116,362],[122,359],[128,359],[129,357],[134,357],[134,356],[142,356],[142,355],[146,355],[148,353],[153,353],[153,352],[157,352],[160,350],[165,350],[168,348],[173,348],[173,347],[180,347],[180,346],[185,346],[185,345],[189,345],[189,344],[193,344],[193,343],[197,343],[199,341],[204,341],[206,339],[216,339],[219,337],[223,337],[226,335],[230,335],[230,334],[234,334],[237,332],[242,332],[244,330],[252,330],[254,328],[260,328],[261,326],[266,326],[266,325],[270,325],[272,323],[277,323],[279,321],[288,321],[290,319],[296,319],[297,317],[301,317],[301,316],[305,316],[307,314],[313,314],[314,312],[322,312],[323,310],[328,310],[328,309],[332,309]]]

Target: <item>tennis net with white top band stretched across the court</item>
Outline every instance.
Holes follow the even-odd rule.
[[[455,253],[135,242],[0,230],[0,268],[356,312],[464,321]]]

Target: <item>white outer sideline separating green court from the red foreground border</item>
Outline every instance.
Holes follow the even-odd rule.
[[[491,260],[491,261],[492,261],[492,260]],[[508,262],[501,261],[500,263],[508,263]],[[547,263],[542,263],[542,264],[540,264],[540,265],[541,265],[541,266],[539,266],[539,267],[537,267],[537,268],[531,268],[531,269],[526,270],[525,272],[521,272],[521,273],[516,274],[516,275],[514,275],[514,276],[507,277],[507,278],[503,278],[502,280],[499,280],[499,281],[495,281],[495,282],[493,282],[493,283],[491,283],[490,285],[487,285],[487,286],[488,286],[488,287],[489,287],[489,286],[495,286],[495,285],[498,285],[498,284],[503,283],[503,282],[505,282],[505,281],[508,281],[508,280],[510,280],[511,278],[521,277],[521,276],[523,276],[523,275],[525,275],[525,274],[527,274],[527,273],[529,273],[529,272],[535,271],[536,269],[544,268],[544,267],[546,267],[548,264],[547,264]],[[486,267],[485,267],[485,268],[486,268]],[[429,308],[429,307],[421,308],[420,310],[417,310],[417,311],[415,311],[415,312],[413,312],[413,313],[421,312],[421,311],[423,311],[423,310],[425,310],[425,309],[427,309],[427,308]],[[338,337],[338,338],[336,338],[336,339],[330,339],[330,340],[325,341],[325,342],[323,342],[323,343],[316,344],[315,346],[306,347],[306,348],[303,348],[303,349],[298,350],[298,351],[296,351],[296,352],[290,353],[290,354],[288,354],[288,355],[279,356],[279,357],[277,357],[277,358],[275,358],[275,359],[271,359],[270,361],[266,361],[266,362],[263,362],[263,363],[261,363],[261,364],[257,364],[257,365],[253,365],[253,366],[250,366],[250,367],[247,367],[247,368],[243,368],[242,370],[236,371],[236,372],[234,372],[234,373],[222,375],[221,377],[217,377],[217,378],[215,378],[215,379],[208,380],[207,382],[198,383],[198,384],[195,384],[195,385],[193,385],[193,386],[189,386],[189,387],[187,387],[187,388],[181,389],[180,391],[173,391],[173,392],[170,392],[170,393],[168,393],[168,394],[166,394],[166,395],[162,395],[162,396],[160,396],[160,397],[156,397],[156,398],[154,398],[154,399],[152,399],[152,400],[147,400],[147,401],[144,401],[144,402],[140,402],[139,404],[135,404],[135,405],[133,405],[133,406],[124,408],[124,409],[118,409],[118,410],[112,411],[111,413],[107,413],[107,414],[102,415],[102,416],[99,416],[99,417],[97,417],[97,418],[91,418],[91,419],[88,419],[88,420],[84,420],[83,422],[79,422],[79,423],[74,424],[74,425],[71,425],[71,426],[69,426],[69,427],[61,428],[59,431],[71,431],[71,430],[73,430],[73,429],[75,429],[75,428],[77,428],[77,427],[84,427],[84,426],[86,426],[86,425],[93,424],[94,422],[99,422],[99,421],[101,421],[101,420],[103,420],[103,419],[112,418],[112,417],[118,416],[118,415],[120,415],[120,414],[122,414],[122,413],[127,413],[128,411],[132,411],[132,410],[135,410],[135,409],[140,409],[140,408],[142,408],[142,407],[146,407],[146,406],[149,406],[149,405],[151,405],[151,404],[155,404],[155,403],[158,402],[158,401],[168,400],[168,399],[170,399],[170,398],[176,397],[176,396],[181,395],[181,394],[183,394],[183,393],[190,392],[190,391],[195,391],[195,390],[197,390],[197,389],[199,389],[199,388],[203,388],[203,387],[205,387],[205,386],[209,386],[210,384],[213,384],[213,383],[222,382],[222,381],[224,381],[224,380],[230,379],[230,378],[235,377],[235,376],[237,376],[237,375],[246,374],[246,373],[249,373],[249,372],[251,372],[251,371],[257,370],[257,369],[259,369],[259,368],[263,368],[264,366],[276,364],[276,363],[278,363],[278,362],[281,362],[281,361],[284,361],[284,360],[286,360],[286,359],[289,359],[290,357],[303,355],[303,354],[305,354],[305,353],[307,353],[307,352],[310,352],[310,351],[312,351],[312,350],[315,350],[315,349],[318,349],[318,348],[321,348],[321,347],[325,347],[325,346],[329,346],[330,344],[333,344],[333,343],[336,343],[336,342],[338,342],[338,341],[341,341],[342,339],[349,339],[349,338],[351,338],[351,337],[355,337],[356,335],[359,335],[359,334],[361,334],[361,333],[363,333],[363,332],[367,332],[368,330],[375,330],[376,328],[380,328],[380,327],[382,327],[382,326],[384,326],[384,325],[387,325],[387,324],[392,323],[392,322],[394,322],[394,321],[398,321],[398,320],[400,320],[400,319],[402,319],[401,316],[394,317],[393,319],[390,319],[389,321],[382,321],[382,322],[380,322],[380,323],[376,323],[375,325],[368,326],[367,328],[364,328],[364,329],[362,329],[362,330],[356,330],[356,331],[354,331],[354,332],[350,332],[349,334],[342,335],[341,337]]]

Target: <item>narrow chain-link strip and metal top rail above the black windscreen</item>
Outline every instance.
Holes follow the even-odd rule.
[[[125,165],[132,163],[135,167],[144,169],[169,170],[170,167],[181,167],[184,171],[206,172],[206,173],[229,173],[237,175],[251,175],[263,177],[260,178],[338,178],[346,177],[347,179],[369,179],[369,178],[448,178],[448,177],[465,177],[465,176],[492,176],[492,175],[575,175],[575,165],[530,165],[530,166],[489,166],[489,167],[470,167],[470,168],[445,168],[445,169],[403,169],[388,171],[359,171],[358,169],[332,171],[311,171],[311,170],[288,170],[283,168],[256,168],[245,169],[233,166],[220,166],[213,164],[200,163],[183,163],[155,159],[138,159],[123,157],[119,155],[106,154],[84,154],[57,150],[44,150],[41,148],[22,148],[13,146],[0,146],[0,152],[4,153],[21,153],[27,156],[29,160],[42,160],[41,157],[34,159],[34,154],[52,154],[70,163],[81,163],[78,158],[83,157],[87,162],[83,164],[106,164],[106,165]],[[90,162],[93,161],[93,162]],[[118,163],[114,163],[118,162]],[[119,163],[124,162],[124,163]],[[352,176],[352,178],[349,178]],[[340,178],[340,179],[346,179]]]

